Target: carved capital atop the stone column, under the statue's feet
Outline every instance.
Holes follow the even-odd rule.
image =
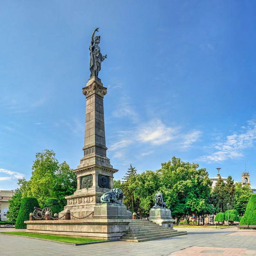
[[[83,88],[83,94],[86,98],[90,97],[92,94],[97,94],[101,98],[104,98],[104,95],[107,94],[107,88],[102,85],[100,79],[92,77],[86,84],[86,87]]]

